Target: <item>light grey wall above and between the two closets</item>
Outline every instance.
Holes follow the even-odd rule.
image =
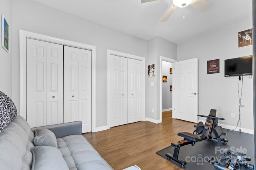
[[[19,106],[19,34],[22,29],[96,46],[96,127],[107,125],[107,49],[147,56],[147,41],[32,0],[13,0],[12,94]],[[9,84],[11,86],[11,83]]]

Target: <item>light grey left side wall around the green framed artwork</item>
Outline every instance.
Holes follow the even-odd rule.
[[[3,0],[0,5],[0,15],[4,15],[9,24],[9,53],[0,47],[0,91],[12,98],[12,0]],[[1,20],[1,19],[0,19]],[[0,30],[2,21],[0,22]],[[0,35],[1,37],[2,35]],[[1,38],[0,38],[1,39]]]

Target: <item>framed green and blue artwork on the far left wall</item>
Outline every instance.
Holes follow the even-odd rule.
[[[2,15],[2,47],[9,53],[9,30],[10,26]]]

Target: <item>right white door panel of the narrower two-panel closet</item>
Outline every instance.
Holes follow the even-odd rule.
[[[128,123],[142,121],[142,61],[128,59]]]

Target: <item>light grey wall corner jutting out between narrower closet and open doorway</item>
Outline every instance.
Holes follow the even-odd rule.
[[[160,122],[162,111],[162,103],[160,103],[160,56],[170,59],[177,59],[177,44],[172,43],[161,37],[154,37],[148,40],[148,57],[146,68],[148,65],[155,64],[155,77],[146,78],[146,117],[148,121],[154,123]],[[154,83],[154,86],[152,86]],[[154,109],[154,112],[152,112]]]

